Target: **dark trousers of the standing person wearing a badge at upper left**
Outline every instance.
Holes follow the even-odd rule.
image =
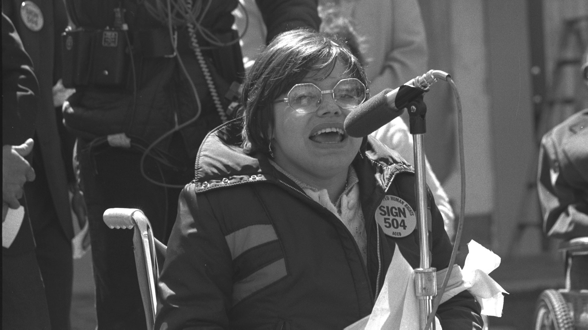
[[[67,330],[70,328],[74,282],[72,246],[55,211],[41,152],[39,149],[34,152],[32,166],[36,177],[25,185],[25,193],[35,237],[36,259],[45,284],[51,328]]]

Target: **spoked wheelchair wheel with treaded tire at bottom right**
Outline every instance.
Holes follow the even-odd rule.
[[[541,293],[535,308],[535,330],[573,330],[574,318],[562,294],[554,289]]]

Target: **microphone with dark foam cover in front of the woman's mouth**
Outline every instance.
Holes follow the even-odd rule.
[[[429,70],[395,90],[387,88],[356,107],[345,119],[343,127],[352,137],[364,137],[402,115],[416,97],[429,91],[438,79],[447,80],[449,73]]]

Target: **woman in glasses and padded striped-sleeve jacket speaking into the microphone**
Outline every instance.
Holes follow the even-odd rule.
[[[372,312],[394,254],[419,266],[412,168],[343,129],[366,85],[350,50],[319,33],[282,33],[260,54],[245,115],[209,134],[180,195],[156,329],[343,329]],[[443,270],[452,245],[430,190],[427,205]],[[481,329],[467,291],[437,315]]]

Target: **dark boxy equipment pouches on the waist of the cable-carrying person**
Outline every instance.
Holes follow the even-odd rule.
[[[126,87],[125,34],[120,29],[75,29],[62,33],[65,87]]]

